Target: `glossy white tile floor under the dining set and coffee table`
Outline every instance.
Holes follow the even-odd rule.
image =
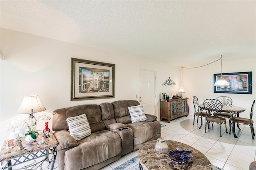
[[[238,138],[234,138],[232,133],[226,133],[223,125],[222,137],[220,137],[219,127],[216,123],[214,123],[214,127],[210,127],[209,130],[206,129],[207,133],[204,133],[205,120],[203,119],[203,127],[199,129],[200,119],[199,123],[195,122],[194,126],[193,119],[194,116],[189,115],[188,117],[174,119],[170,123],[160,121],[160,123],[166,125],[161,128],[162,137],[196,148],[205,154],[213,165],[224,170],[248,170],[250,163],[256,160],[256,140],[252,140],[248,126],[240,126],[242,130],[238,130],[236,127]],[[138,150],[126,154],[101,170],[112,170],[137,155]],[[43,169],[48,170],[48,165],[46,162]],[[54,167],[56,167],[55,170],[58,170],[57,162]]]

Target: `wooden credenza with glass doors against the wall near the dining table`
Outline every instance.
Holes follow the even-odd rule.
[[[168,123],[172,119],[182,116],[188,116],[188,97],[180,99],[170,99],[161,102],[160,119],[167,119]]]

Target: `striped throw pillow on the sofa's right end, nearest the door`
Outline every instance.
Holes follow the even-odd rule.
[[[128,110],[130,112],[132,123],[146,121],[148,119],[144,113],[142,105],[128,107]]]

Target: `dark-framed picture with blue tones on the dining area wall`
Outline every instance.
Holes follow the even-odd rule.
[[[214,74],[214,81],[220,79],[221,74]],[[214,86],[214,93],[252,94],[252,72],[222,73],[222,78],[228,81],[228,86]]]

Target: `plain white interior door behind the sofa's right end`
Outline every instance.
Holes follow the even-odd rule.
[[[155,71],[140,69],[140,105],[144,112],[155,115]]]

